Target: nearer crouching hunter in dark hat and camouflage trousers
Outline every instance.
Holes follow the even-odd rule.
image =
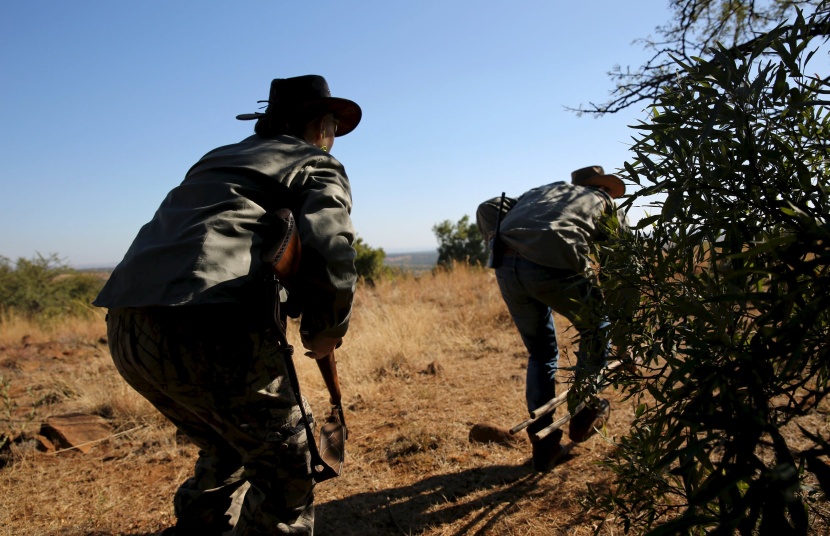
[[[238,118],[256,119],[256,133],[190,169],[94,303],[108,308],[118,371],[200,449],[164,534],[313,534],[305,402],[273,336],[260,251],[269,216],[291,209],[302,342],[312,358],[329,355],[348,329],[356,274],[351,189],[328,151],[361,110],[309,75],[273,80],[266,110]]]

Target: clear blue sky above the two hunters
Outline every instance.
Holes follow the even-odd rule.
[[[502,191],[607,171],[627,125],[565,110],[667,22],[660,0],[6,2],[0,255],[116,264],[204,153],[245,138],[272,78],[321,74],[363,108],[337,139],[358,235],[435,249],[432,226]],[[633,215],[637,218],[637,214]]]

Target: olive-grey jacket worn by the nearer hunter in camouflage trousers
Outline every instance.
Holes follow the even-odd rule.
[[[267,301],[259,254],[269,213],[278,208],[294,213],[303,246],[301,331],[343,336],[356,281],[349,180],[334,157],[291,136],[254,135],[202,157],[138,232],[93,303],[259,310]]]

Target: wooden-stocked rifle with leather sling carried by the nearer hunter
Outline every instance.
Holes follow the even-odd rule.
[[[334,352],[326,357],[316,359],[317,367],[326,383],[332,404],[331,412],[326,422],[320,427],[320,447],[314,443],[314,433],[311,430],[310,420],[306,415],[303,405],[303,398],[300,393],[300,382],[297,378],[297,370],[294,368],[292,355],[294,348],[288,344],[286,337],[286,315],[280,311],[280,303],[287,300],[291,287],[298,284],[297,275],[300,268],[302,245],[300,235],[297,232],[297,222],[294,215],[287,209],[279,209],[275,213],[274,235],[271,240],[263,243],[261,260],[271,270],[271,282],[274,284],[273,296],[273,320],[277,326],[277,333],[280,343],[285,348],[285,365],[288,371],[288,379],[294,396],[300,406],[300,413],[308,438],[308,447],[311,453],[311,472],[316,482],[323,482],[330,478],[339,476],[343,470],[345,458],[346,439],[348,429],[343,417],[343,406],[340,393],[340,381],[337,376],[337,362]]]

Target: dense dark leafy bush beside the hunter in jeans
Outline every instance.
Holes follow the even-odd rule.
[[[636,419],[592,497],[637,533],[830,526],[826,427],[798,421],[830,388],[830,83],[807,74],[827,28],[821,2],[677,61],[637,127],[625,204],[665,197],[603,252],[609,294],[640,291],[614,330],[642,367],[614,378]]]

